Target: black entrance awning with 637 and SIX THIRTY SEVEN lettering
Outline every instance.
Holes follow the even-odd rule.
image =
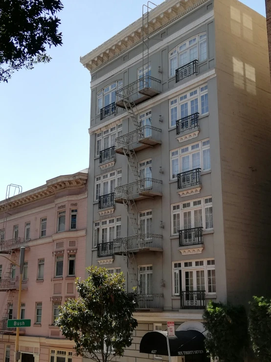
[[[171,356],[198,355],[205,352],[204,339],[201,332],[195,330],[176,331],[175,336],[169,337]],[[142,337],[139,351],[154,355],[168,356],[167,332],[148,332]]]

